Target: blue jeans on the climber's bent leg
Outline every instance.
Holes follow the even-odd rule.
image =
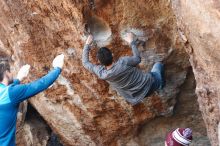
[[[150,91],[147,93],[147,96],[152,94],[154,91],[158,89],[162,89],[164,86],[164,65],[160,62],[154,64],[150,73],[154,78],[154,83],[151,86]]]

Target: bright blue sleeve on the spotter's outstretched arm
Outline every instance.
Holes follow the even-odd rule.
[[[44,90],[46,90],[58,78],[61,73],[60,68],[54,68],[42,78],[30,82],[28,84],[12,84],[10,85],[9,98],[12,103],[20,103]]]

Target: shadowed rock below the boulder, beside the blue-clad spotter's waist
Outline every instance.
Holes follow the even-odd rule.
[[[25,122],[17,128],[17,146],[62,146],[37,111],[28,106]]]

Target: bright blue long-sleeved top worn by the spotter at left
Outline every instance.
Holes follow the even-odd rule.
[[[0,146],[15,146],[19,103],[47,89],[61,73],[55,68],[44,77],[28,84],[14,80],[9,86],[0,84]]]

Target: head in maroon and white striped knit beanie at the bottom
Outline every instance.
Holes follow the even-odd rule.
[[[192,130],[190,128],[177,128],[168,133],[165,146],[189,146],[192,142]]]

